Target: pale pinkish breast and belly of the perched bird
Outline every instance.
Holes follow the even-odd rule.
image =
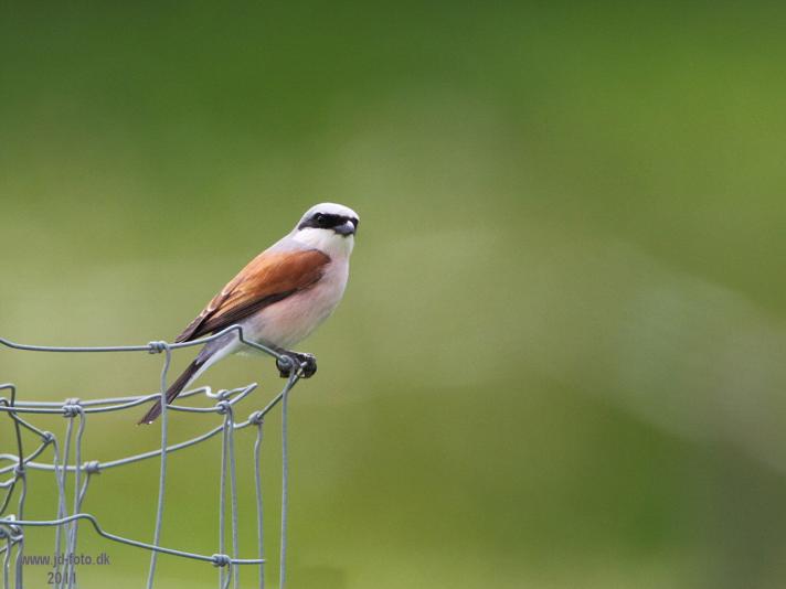
[[[252,341],[289,349],[333,312],[343,296],[348,261],[332,261],[317,286],[263,309],[243,322]]]

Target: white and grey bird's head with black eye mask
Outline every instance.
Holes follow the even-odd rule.
[[[354,246],[358,231],[358,213],[336,203],[321,203],[306,211],[298,222],[293,237],[332,256],[349,255]]]

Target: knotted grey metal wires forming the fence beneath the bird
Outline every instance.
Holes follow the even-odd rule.
[[[208,342],[217,340],[230,332],[236,332],[238,340],[256,350],[259,350],[279,361],[282,366],[289,365],[290,375],[287,379],[286,385],[283,389],[265,406],[262,410],[254,411],[251,414],[248,419],[245,421],[236,422],[234,418],[234,408],[237,403],[249,395],[257,386],[256,383],[252,383],[245,387],[235,388],[232,390],[220,390],[217,393],[212,393],[210,387],[200,387],[192,390],[184,392],[180,395],[181,398],[187,398],[193,395],[203,393],[209,398],[219,399],[219,401],[212,407],[190,407],[180,405],[169,405],[166,403],[166,389],[167,389],[167,375],[171,363],[171,352],[172,350],[178,350],[181,347],[191,347],[195,345],[203,345]],[[304,366],[297,366],[293,364],[293,360],[280,353],[277,350],[269,349],[265,345],[257,344],[256,342],[247,341],[244,338],[243,329],[240,325],[232,325],[215,333],[211,336],[203,338],[201,340],[195,340],[192,342],[182,342],[169,344],[167,342],[150,342],[147,345],[119,345],[119,346],[41,346],[41,345],[28,345],[11,342],[3,338],[0,338],[0,345],[7,347],[31,351],[31,352],[148,352],[148,353],[166,353],[163,367],[161,370],[161,386],[160,392],[148,395],[136,395],[136,396],[125,396],[125,397],[107,397],[100,399],[91,399],[86,401],[79,401],[77,399],[67,399],[65,404],[56,401],[17,401],[15,399],[15,387],[13,384],[0,385],[0,389],[9,388],[11,389],[11,403],[8,399],[0,397],[0,411],[9,414],[14,421],[14,427],[18,432],[18,453],[8,454],[0,453],[0,460],[9,460],[12,463],[8,467],[0,468],[0,474],[7,472],[13,472],[12,479],[9,481],[1,482],[0,488],[7,490],[7,499],[4,503],[11,497],[14,492],[14,486],[20,484],[20,493],[18,501],[18,514],[3,516],[6,506],[0,510],[0,538],[6,538],[6,546],[0,549],[0,554],[3,554],[3,587],[9,587],[9,576],[10,576],[10,563],[12,555],[15,554],[15,574],[14,580],[18,589],[22,588],[22,554],[24,545],[24,534],[23,529],[25,526],[39,527],[39,526],[52,526],[55,528],[55,554],[60,554],[61,547],[61,532],[66,532],[65,537],[65,554],[75,555],[76,544],[77,544],[77,532],[78,522],[82,520],[87,520],[94,531],[102,537],[107,538],[113,542],[120,544],[126,544],[129,546],[135,546],[138,548],[148,549],[151,553],[150,568],[148,571],[147,588],[152,588],[157,556],[158,554],[167,554],[172,556],[179,556],[184,558],[191,558],[201,561],[209,561],[214,566],[220,568],[220,587],[227,589],[230,585],[233,585],[234,589],[240,587],[240,569],[241,565],[256,565],[259,567],[259,587],[264,589],[265,578],[264,578],[264,546],[263,546],[263,511],[262,511],[262,478],[261,478],[261,449],[262,449],[262,422],[264,417],[279,403],[282,404],[282,538],[280,538],[280,587],[284,587],[285,582],[285,560],[286,560],[286,529],[287,529],[287,486],[288,486],[288,462],[287,462],[287,401],[288,394],[295,384],[300,378]],[[108,413],[124,410],[138,405],[142,405],[155,398],[161,399],[161,448],[152,450],[149,452],[142,452],[139,454],[120,458],[107,462],[98,461],[82,461],[82,439],[85,432],[86,426],[86,414],[88,413]],[[178,442],[174,445],[168,445],[168,409],[184,413],[219,413],[224,415],[224,422],[206,432],[191,438],[189,440]],[[56,436],[49,431],[41,430],[22,419],[19,414],[60,414],[68,419],[65,432],[65,446],[61,454],[61,448]],[[78,416],[79,425],[74,437],[74,418]],[[255,461],[255,486],[256,486],[256,500],[257,500],[257,551],[258,558],[238,558],[238,507],[237,507],[237,480],[236,480],[236,464],[235,464],[235,448],[234,448],[234,431],[244,429],[251,425],[257,426],[257,436],[254,443],[254,461]],[[33,432],[41,439],[41,445],[30,454],[24,457],[21,446],[21,430],[23,427],[26,430]],[[230,476],[230,495],[231,495],[231,510],[232,510],[232,556],[229,556],[224,551],[223,538],[220,539],[220,553],[212,556],[190,553],[185,550],[180,550],[176,548],[166,548],[160,545],[161,526],[163,520],[163,506],[164,506],[164,493],[166,493],[166,475],[167,475],[167,458],[170,452],[181,450],[183,448],[189,448],[191,446],[201,443],[219,432],[223,432],[223,443],[222,443],[222,494],[221,494],[221,534],[224,533],[224,522],[223,514],[225,512],[225,475],[226,469],[229,469]],[[49,445],[53,447],[52,463],[40,463],[35,462],[35,459],[43,453]],[[70,464],[71,457],[71,446],[74,446],[74,464]],[[129,464],[132,462],[138,462],[141,460],[161,457],[161,468],[159,474],[159,496],[157,505],[157,517],[156,526],[153,531],[153,542],[144,543],[140,540],[127,538],[116,534],[105,532],[98,521],[94,515],[89,513],[82,513],[82,505],[84,503],[92,475],[100,472],[104,469],[120,467]],[[55,482],[57,485],[57,517],[53,520],[24,520],[24,501],[26,497],[26,480],[24,478],[24,472],[26,469],[44,470],[54,473]],[[67,490],[67,475],[68,472],[74,472],[74,497],[73,497],[73,513],[67,515],[66,507],[66,490]],[[83,472],[85,473],[83,481]],[[15,547],[15,551],[14,551]],[[65,579],[67,580],[68,589],[73,589],[74,576],[73,558],[66,558],[66,564],[64,565],[63,574],[61,575],[62,583],[59,585],[60,589],[65,589]],[[60,571],[60,559],[56,559],[56,570]]]

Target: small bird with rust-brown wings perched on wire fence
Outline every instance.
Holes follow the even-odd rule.
[[[190,342],[238,324],[243,338],[293,360],[278,363],[282,377],[294,366],[302,376],[317,372],[311,354],[290,347],[306,339],[341,301],[349,278],[349,258],[360,218],[348,206],[321,203],[310,207],[295,228],[252,259],[208,303],[174,340]],[[230,332],[202,347],[167,389],[167,404],[204,371],[247,346]],[[161,399],[139,420],[152,424],[161,415]]]

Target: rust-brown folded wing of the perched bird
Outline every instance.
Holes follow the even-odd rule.
[[[213,297],[174,341],[188,342],[215,333],[312,287],[328,261],[330,258],[317,249],[259,254]]]

